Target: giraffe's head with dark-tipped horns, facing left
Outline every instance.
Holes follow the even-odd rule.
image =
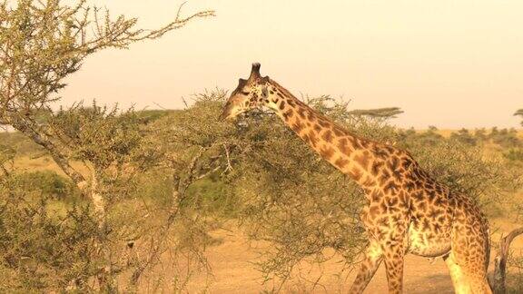
[[[251,75],[247,80],[240,79],[238,87],[223,107],[222,120],[232,119],[252,109],[270,106],[269,76],[260,74],[260,64],[252,64]]]

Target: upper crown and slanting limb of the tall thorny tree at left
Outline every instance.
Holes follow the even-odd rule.
[[[0,3],[0,123],[42,145],[79,185],[84,176],[71,167],[59,139],[49,136],[48,126],[36,119],[59,100],[57,93],[64,88],[64,79],[90,54],[156,39],[194,18],[213,15],[203,11],[183,17],[179,10],[172,23],[144,30],[136,27],[136,18],[120,15],[112,19],[109,12],[101,15],[100,9],[87,5],[86,0],[75,5],[63,5],[59,0],[10,3]]]

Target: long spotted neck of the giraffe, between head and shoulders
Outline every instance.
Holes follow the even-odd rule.
[[[378,181],[378,175],[373,171],[379,168],[376,164],[383,162],[377,158],[375,142],[358,138],[341,128],[272,80],[269,91],[269,107],[324,160],[361,187],[370,187]]]

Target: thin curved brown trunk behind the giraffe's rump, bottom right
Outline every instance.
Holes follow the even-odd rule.
[[[507,276],[507,259],[510,250],[510,243],[518,235],[523,234],[523,227],[512,230],[506,237],[502,237],[499,241],[499,251],[496,259],[494,259],[494,277],[493,277],[493,291],[494,294],[505,294],[506,284],[505,278]]]

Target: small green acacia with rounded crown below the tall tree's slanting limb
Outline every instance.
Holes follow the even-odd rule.
[[[135,221],[119,223],[114,208],[129,198],[136,178],[155,166],[162,153],[144,140],[143,120],[132,109],[120,112],[116,107],[96,103],[91,107],[76,104],[54,113],[48,118],[48,126],[51,137],[66,143],[67,159],[84,162],[90,171],[89,192],[98,224],[95,246],[104,260],[98,279],[105,288],[112,289],[113,274],[127,267],[112,256],[125,254],[125,240],[139,239],[140,226],[136,222],[142,220],[134,215]],[[136,285],[137,279],[131,284]]]

